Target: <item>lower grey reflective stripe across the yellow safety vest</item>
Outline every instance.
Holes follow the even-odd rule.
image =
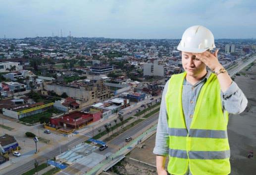
[[[188,151],[189,159],[226,159],[230,157],[230,150],[225,151]],[[188,159],[186,150],[169,149],[169,156]]]

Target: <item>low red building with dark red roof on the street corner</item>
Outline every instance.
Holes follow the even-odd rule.
[[[92,122],[96,122],[101,119],[100,112],[82,112],[74,111],[69,114],[65,114],[61,117],[55,117],[50,119],[52,128],[58,128],[62,132],[71,132],[81,129]]]

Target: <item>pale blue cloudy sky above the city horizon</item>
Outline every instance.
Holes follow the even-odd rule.
[[[215,39],[256,38],[255,0],[0,0],[0,38],[180,39],[203,25]]]

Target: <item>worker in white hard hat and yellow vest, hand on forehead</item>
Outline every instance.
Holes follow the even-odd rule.
[[[203,26],[188,28],[177,47],[184,72],[172,75],[162,93],[153,151],[158,175],[231,172],[228,114],[243,112],[248,101],[214,47],[213,34]]]

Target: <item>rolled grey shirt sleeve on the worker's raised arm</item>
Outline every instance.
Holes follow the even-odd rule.
[[[242,113],[248,103],[245,94],[235,82],[225,92],[221,91],[221,98],[223,109],[230,114]]]

